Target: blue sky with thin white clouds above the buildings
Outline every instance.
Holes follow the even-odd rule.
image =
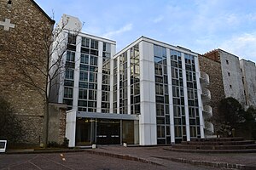
[[[256,61],[255,0],[36,0],[59,22],[69,14],[83,31],[117,42],[117,52],[150,37],[205,54],[222,48]]]

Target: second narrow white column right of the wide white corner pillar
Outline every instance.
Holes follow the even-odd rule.
[[[187,133],[187,141],[190,141],[188,88],[187,88],[185,56],[183,53],[182,53],[182,65],[183,65],[183,90],[184,90],[184,104],[185,104],[185,116],[186,116],[186,133]]]

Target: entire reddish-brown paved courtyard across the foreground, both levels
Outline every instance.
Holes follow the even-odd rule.
[[[0,154],[2,169],[220,169],[214,167],[238,166],[238,169],[256,169],[256,153],[198,154],[166,150],[168,147],[98,146],[79,152]],[[25,150],[24,150],[25,151]],[[10,153],[10,152],[9,152]],[[186,162],[186,163],[183,163]],[[204,166],[199,166],[199,165]],[[234,167],[230,169],[236,169]]]

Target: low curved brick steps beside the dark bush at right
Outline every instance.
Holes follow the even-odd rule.
[[[253,140],[242,138],[191,139],[181,144],[173,144],[167,150],[197,153],[256,153],[256,144]]]

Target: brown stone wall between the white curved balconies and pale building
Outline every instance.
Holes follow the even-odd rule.
[[[211,100],[208,105],[212,106],[212,115],[218,114],[218,103],[224,99],[224,86],[222,79],[221,64],[217,60],[199,55],[200,71],[206,72],[210,79],[207,89],[211,92]]]

